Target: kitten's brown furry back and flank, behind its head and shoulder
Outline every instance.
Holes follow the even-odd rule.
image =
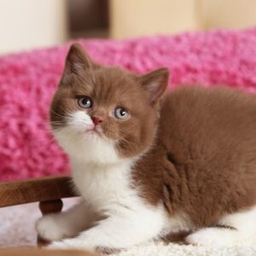
[[[172,209],[205,225],[256,204],[255,96],[221,87],[174,90],[164,99],[159,134],[172,164],[163,171]]]

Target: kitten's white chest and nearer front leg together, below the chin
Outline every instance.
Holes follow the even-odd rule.
[[[89,167],[87,169],[87,167]],[[73,179],[84,201],[96,212],[107,214],[95,227],[75,239],[54,242],[51,247],[131,247],[160,234],[166,214],[162,207],[145,205],[130,189],[131,163],[84,167],[73,161]]]

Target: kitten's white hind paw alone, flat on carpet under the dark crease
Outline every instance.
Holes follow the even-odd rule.
[[[191,235],[187,236],[185,240],[188,243],[199,246],[223,247],[234,244],[234,232],[236,231],[207,228],[192,233]]]

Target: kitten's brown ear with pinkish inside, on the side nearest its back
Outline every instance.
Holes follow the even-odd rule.
[[[149,104],[153,105],[158,102],[160,96],[166,90],[169,79],[169,70],[167,68],[160,68],[151,73],[146,73],[139,77],[139,81],[143,89],[147,91],[149,97]]]

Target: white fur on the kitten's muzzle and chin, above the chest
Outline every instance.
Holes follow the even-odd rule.
[[[67,128],[54,131],[54,134],[72,160],[79,160],[83,164],[108,164],[119,161],[114,142],[103,134],[99,136],[96,132],[90,131],[94,125],[87,113],[77,111],[70,114],[67,120]],[[98,125],[96,130],[102,133]]]

